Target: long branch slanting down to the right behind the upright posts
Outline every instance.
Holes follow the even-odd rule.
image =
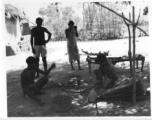
[[[94,2],[94,4],[99,5],[99,6],[103,7],[103,8],[105,8],[105,9],[107,9],[107,10],[115,13],[115,14],[118,15],[119,17],[123,18],[122,15],[120,15],[119,13],[115,12],[114,10],[112,10],[112,9],[110,9],[110,8],[104,6],[104,5],[101,5],[99,2]],[[133,24],[133,22],[130,21],[128,18],[124,17],[124,19]],[[138,27],[138,26],[137,26],[137,28],[138,28],[140,31],[142,31],[145,35],[149,36],[143,29],[141,29],[141,28]]]

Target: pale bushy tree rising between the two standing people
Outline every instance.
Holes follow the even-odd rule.
[[[52,3],[47,8],[41,8],[39,13],[44,18],[44,25],[53,33],[53,40],[65,40],[65,29],[69,20],[79,24],[80,18],[75,16],[72,7],[59,7],[60,3]]]

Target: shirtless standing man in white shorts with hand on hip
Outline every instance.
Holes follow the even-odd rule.
[[[49,42],[51,38],[51,33],[45,28],[42,27],[42,18],[36,19],[37,26],[31,30],[31,47],[32,52],[37,60],[37,67],[39,68],[39,57],[41,54],[44,70],[47,71],[47,62],[46,62],[46,43]],[[48,34],[48,39],[45,40],[45,32]],[[34,45],[33,45],[34,41]],[[39,77],[39,72],[37,71],[37,77]]]

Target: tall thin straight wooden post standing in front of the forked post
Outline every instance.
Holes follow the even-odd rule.
[[[133,104],[136,104],[136,77],[135,77],[135,7],[133,6]]]

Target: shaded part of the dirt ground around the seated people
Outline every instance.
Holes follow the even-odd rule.
[[[48,63],[48,66],[51,63]],[[50,81],[65,82],[73,77],[83,80],[84,84],[90,85],[94,83],[95,75],[92,73],[89,75],[88,65],[86,62],[82,62],[83,70],[77,70],[77,64],[74,64],[76,70],[71,70],[68,63],[57,63],[57,67],[49,74]],[[40,65],[43,69],[43,66]],[[93,69],[97,69],[97,65],[92,65]],[[62,88],[48,88],[44,89],[45,95],[39,95],[38,97],[45,101],[43,106],[40,106],[37,102],[31,98],[25,98],[20,86],[20,73],[22,69],[7,72],[7,107],[8,117],[43,117],[43,116],[96,116],[95,106],[87,104],[81,106],[84,99],[87,98],[88,92],[85,93],[70,93],[73,97],[72,108],[65,113],[58,113],[52,108],[52,97],[58,93],[62,93]],[[129,69],[116,67],[118,76],[129,75]],[[150,86],[150,78],[148,63],[144,66],[145,76],[143,84],[145,89]],[[132,105],[130,102],[123,101],[101,101],[98,102],[99,116],[150,116],[150,97],[146,100],[138,102],[136,105]]]

